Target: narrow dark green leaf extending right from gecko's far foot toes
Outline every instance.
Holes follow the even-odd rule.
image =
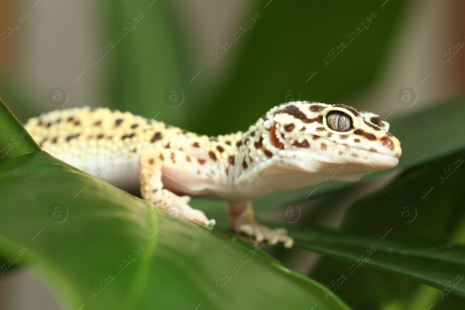
[[[463,245],[440,245],[434,241],[405,238],[381,239],[315,227],[309,227],[308,231],[292,231],[291,235],[295,237],[295,245],[298,247],[352,262],[345,272],[346,277],[363,265],[409,277],[465,297]],[[462,279],[458,278],[459,274]],[[454,279],[457,285],[453,283]]]

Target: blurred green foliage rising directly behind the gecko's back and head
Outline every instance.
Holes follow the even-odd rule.
[[[382,66],[403,8],[400,0],[391,0],[383,7],[381,2],[367,0],[256,1],[250,13],[244,14],[244,20],[237,21],[239,30],[255,12],[260,15],[253,28],[239,38],[240,44],[226,35],[217,46],[231,41],[228,52],[211,66],[205,61],[203,66],[194,67],[183,28],[188,26],[185,21],[176,20],[176,7],[163,1],[147,7],[149,2],[152,1],[120,0],[116,5],[108,2],[113,11],[109,36],[118,33],[136,13],[146,14],[128,40],[118,43],[116,55],[111,58],[114,69],[108,88],[110,106],[148,118],[161,111],[157,119],[207,135],[248,128],[270,108],[283,103],[289,89],[297,89],[302,100],[344,103],[379,74],[363,53]],[[372,12],[376,17],[367,24],[368,28],[350,42],[346,36],[361,28],[361,23],[373,16]],[[344,40],[348,46],[326,66],[323,59],[328,59],[327,53]],[[230,49],[236,54],[230,53]],[[207,57],[211,55],[204,56]],[[212,89],[208,81],[217,76],[221,61],[233,61],[232,72]],[[189,83],[199,71],[199,76]],[[181,106],[166,103],[164,96],[170,87],[183,90],[186,99]],[[295,96],[294,93],[294,100],[299,99]]]

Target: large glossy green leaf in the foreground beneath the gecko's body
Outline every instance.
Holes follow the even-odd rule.
[[[348,309],[263,250],[251,252],[216,229],[173,223],[46,152],[1,162],[0,196],[1,256],[11,259],[24,244],[14,264],[34,268],[64,308]],[[222,280],[226,274],[231,278]],[[224,285],[209,296],[216,281]]]

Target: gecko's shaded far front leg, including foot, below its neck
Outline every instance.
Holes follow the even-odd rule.
[[[252,209],[252,203],[246,202],[229,202],[228,219],[231,229],[237,233],[244,233],[249,237],[255,237],[255,242],[259,243],[264,240],[268,244],[274,245],[278,242],[283,242],[284,247],[289,249],[294,244],[292,237],[287,236],[285,228],[277,228],[272,230],[255,221]]]

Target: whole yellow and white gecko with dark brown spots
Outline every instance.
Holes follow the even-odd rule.
[[[323,182],[334,164],[332,180],[357,181],[396,166],[402,152],[379,115],[308,101],[275,106],[247,130],[217,137],[88,106],[47,112],[25,128],[54,157],[196,223],[215,220],[190,198],[226,200],[233,232],[286,248],[292,237],[256,222],[252,198]]]

